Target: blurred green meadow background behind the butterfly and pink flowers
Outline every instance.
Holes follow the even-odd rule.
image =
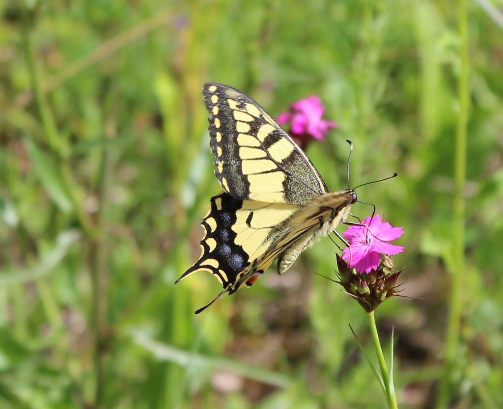
[[[330,190],[347,138],[354,186],[398,172],[358,195],[405,231],[413,298],[377,310],[399,406],[503,407],[503,2],[462,5],[0,1],[0,407],[386,407],[363,309],[312,274],[330,240],[197,316],[220,284],[174,286],[220,191],[205,81],[273,116],[319,95]]]

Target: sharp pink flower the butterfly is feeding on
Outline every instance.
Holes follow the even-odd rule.
[[[403,247],[387,243],[400,237],[403,230],[383,223],[379,215],[372,219],[367,217],[362,224],[350,226],[343,233],[350,247],[344,250],[342,258],[348,262],[348,267],[355,268],[359,273],[370,273],[379,266],[379,253],[394,255],[403,251]]]

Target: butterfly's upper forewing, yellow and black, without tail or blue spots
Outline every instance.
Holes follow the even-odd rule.
[[[327,193],[323,179],[280,125],[248,96],[205,84],[215,175],[240,199],[303,205]]]

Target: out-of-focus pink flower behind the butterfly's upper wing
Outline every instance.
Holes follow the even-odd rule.
[[[286,125],[290,122],[290,135],[297,140],[316,138],[325,139],[329,128],[337,128],[337,123],[321,119],[325,107],[316,95],[294,102],[290,112],[278,116],[278,123]]]

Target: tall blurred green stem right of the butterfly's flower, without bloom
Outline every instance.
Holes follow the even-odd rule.
[[[458,354],[461,313],[463,309],[462,289],[465,282],[465,201],[464,185],[466,180],[466,140],[468,123],[468,14],[467,0],[458,3],[458,26],[461,38],[460,63],[461,71],[458,78],[459,116],[455,140],[454,159],[454,220],[453,220],[453,259],[454,271],[451,271],[451,296],[449,305],[449,319],[445,346],[444,373],[440,382],[437,408],[445,409],[450,400],[451,379],[454,364]]]

